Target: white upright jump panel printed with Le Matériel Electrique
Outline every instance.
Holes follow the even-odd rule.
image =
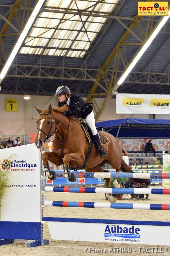
[[[41,222],[40,150],[35,144],[4,148],[0,163],[1,171],[9,172],[1,220]]]

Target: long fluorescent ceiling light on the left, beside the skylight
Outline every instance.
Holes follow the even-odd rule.
[[[36,4],[35,8],[33,9],[33,12],[29,18],[29,20],[27,21],[21,35],[19,36],[15,46],[13,47],[10,56],[8,57],[8,60],[6,61],[4,68],[2,69],[1,73],[0,73],[0,84],[4,78],[4,76],[6,75],[6,73],[8,72],[8,69],[11,66],[11,63],[13,62],[17,52],[19,51],[19,48],[21,47],[21,44],[23,43],[29,29],[31,28],[37,14],[39,13],[43,3],[45,2],[45,0],[39,0],[38,3]]]

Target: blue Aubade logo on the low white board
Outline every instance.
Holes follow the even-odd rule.
[[[119,225],[107,225],[105,228],[105,237],[107,236],[140,238],[140,228],[135,228],[134,226],[120,227]]]

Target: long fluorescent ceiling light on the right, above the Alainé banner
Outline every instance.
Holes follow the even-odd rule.
[[[132,62],[130,63],[129,67],[125,70],[125,72],[122,74],[122,76],[119,78],[119,80],[117,81],[117,84],[114,87],[114,90],[117,90],[119,88],[119,86],[123,83],[123,81],[126,79],[126,77],[129,75],[130,71],[134,68],[134,66],[136,65],[137,61],[141,58],[141,56],[144,54],[144,52],[146,51],[146,49],[149,47],[149,45],[152,43],[153,39],[158,35],[159,31],[161,30],[161,28],[164,26],[164,24],[166,23],[166,21],[169,19],[170,17],[170,10],[168,12],[167,16],[164,16],[164,18],[160,21],[159,25],[155,28],[155,30],[152,32],[151,36],[148,38],[148,40],[146,41],[146,43],[142,46],[142,48],[140,49],[140,51],[137,53],[137,55],[135,56],[135,58],[132,60]]]

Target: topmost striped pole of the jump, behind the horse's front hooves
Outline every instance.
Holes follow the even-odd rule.
[[[64,172],[55,172],[56,177],[64,177]],[[129,178],[129,179],[170,179],[170,173],[138,172],[74,172],[78,178]]]

